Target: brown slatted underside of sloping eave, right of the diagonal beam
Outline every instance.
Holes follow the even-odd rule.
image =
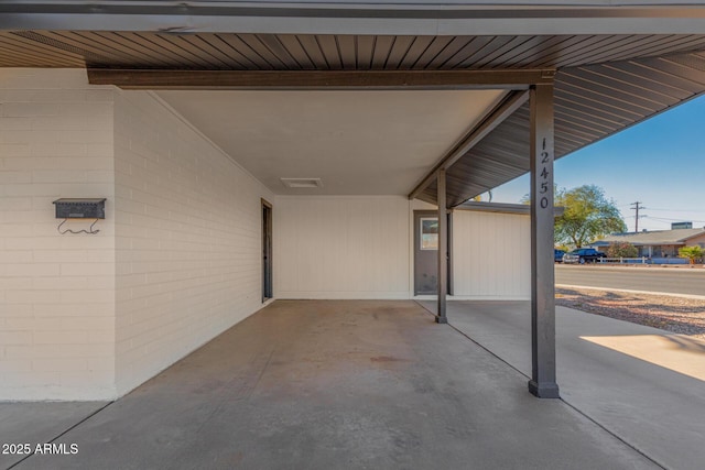
[[[555,157],[606,139],[704,91],[705,53],[558,69]],[[448,207],[525,174],[529,145],[529,105],[524,105],[448,170]],[[435,182],[416,197],[435,203]]]

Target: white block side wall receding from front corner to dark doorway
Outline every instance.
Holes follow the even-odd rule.
[[[116,94],[124,393],[261,307],[260,198],[272,195],[152,94]]]

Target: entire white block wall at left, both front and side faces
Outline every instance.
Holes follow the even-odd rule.
[[[257,311],[261,197],[152,94],[0,70],[0,400],[115,398]]]

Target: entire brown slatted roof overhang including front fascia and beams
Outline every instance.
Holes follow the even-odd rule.
[[[554,80],[556,157],[705,91],[705,1],[486,3],[9,0],[0,67],[88,67],[126,88],[514,95],[534,73]],[[441,166],[449,207],[524,174],[528,105],[494,113],[448,142],[411,195],[435,203]]]

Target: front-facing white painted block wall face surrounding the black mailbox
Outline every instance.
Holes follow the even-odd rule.
[[[0,70],[0,400],[116,394],[112,153],[111,89]],[[62,197],[108,198],[100,232],[59,234]]]

